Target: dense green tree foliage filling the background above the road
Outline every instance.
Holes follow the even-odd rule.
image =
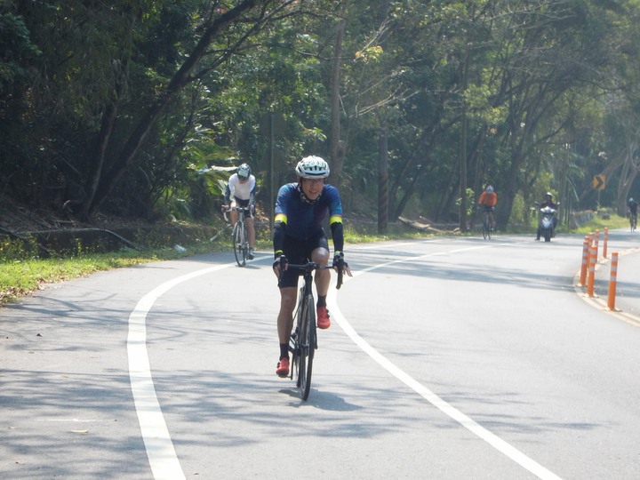
[[[246,161],[263,182],[274,151],[280,180],[295,158],[329,158],[341,140],[345,204],[374,213],[384,132],[392,217],[458,214],[463,136],[463,187],[491,181],[513,194],[500,196],[502,223],[526,221],[548,189],[570,208],[620,208],[628,194],[640,196],[636,2],[392,1],[385,12],[380,3],[265,0],[215,30],[198,53],[204,32],[234,5],[0,6],[3,193],[61,209],[114,174],[104,212],[205,219],[228,173],[212,165]],[[340,20],[347,28],[335,139]],[[169,96],[170,85],[178,86]],[[273,145],[271,112],[284,119]],[[132,144],[135,155],[117,172]],[[590,181],[602,172],[607,188],[594,192]]]

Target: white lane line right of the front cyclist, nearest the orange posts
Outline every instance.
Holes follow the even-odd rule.
[[[358,275],[362,275],[365,272],[371,272],[372,270],[375,270],[377,268],[388,267],[389,265],[392,265],[395,263],[402,263],[402,262],[407,262],[411,260],[424,259],[428,257],[435,257],[438,255],[445,255],[445,254],[456,253],[456,252],[466,252],[470,250],[476,250],[479,248],[487,248],[487,246],[460,248],[460,249],[452,250],[449,252],[435,252],[435,253],[428,253],[426,255],[420,255],[418,257],[406,258],[401,260],[393,260],[387,263],[375,265],[373,267],[365,268],[364,270],[358,271],[354,273],[354,277]],[[348,277],[345,277],[345,283],[347,281],[348,281]],[[375,362],[380,364],[382,368],[384,368],[389,373],[391,373],[394,377],[396,377],[396,379],[402,381],[404,385],[406,385],[407,387],[412,388],[414,392],[422,396],[425,400],[428,401],[428,403],[434,405],[438,410],[440,410],[441,412],[443,412],[445,415],[449,416],[453,420],[456,420],[464,428],[467,428],[471,433],[478,436],[479,438],[484,440],[486,443],[492,445],[493,448],[495,448],[502,454],[506,455],[509,459],[514,460],[523,468],[530,471],[533,475],[538,476],[539,478],[542,478],[544,480],[560,479],[559,476],[556,476],[556,474],[549,471],[547,468],[542,467],[540,463],[527,457],[523,452],[520,452],[519,450],[517,450],[516,447],[508,444],[507,442],[502,440],[499,436],[493,434],[486,428],[478,425],[476,421],[468,418],[467,415],[460,412],[460,410],[458,410],[451,404],[446,403],[442,398],[437,396],[435,393],[433,393],[431,390],[426,388],[424,385],[420,384],[416,380],[413,380],[413,378],[409,374],[407,374],[403,370],[396,367],[395,364],[392,364],[385,356],[382,356],[375,348],[372,348],[372,346],[366,340],[364,340],[360,335],[358,335],[358,333],[353,329],[351,324],[349,324],[347,319],[342,315],[342,312],[340,312],[340,308],[338,308],[338,303],[337,303],[337,292],[335,289],[330,289],[329,295],[327,296],[327,300],[331,303],[331,306],[329,309],[332,312],[332,317],[338,321],[340,328],[342,328],[342,330],[345,333],[347,333],[348,337],[354,343],[356,343],[356,345],[359,348],[361,348],[364,351],[364,353],[366,353],[368,356],[371,356],[372,359],[375,360]]]

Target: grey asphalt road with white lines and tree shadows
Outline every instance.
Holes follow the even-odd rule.
[[[308,402],[268,252],[49,285],[0,310],[0,477],[636,479],[637,235],[619,312],[580,236],[348,245]]]

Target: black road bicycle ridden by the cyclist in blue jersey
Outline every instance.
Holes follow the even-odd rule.
[[[307,400],[311,391],[311,372],[313,370],[314,353],[317,349],[316,335],[316,303],[313,296],[313,271],[332,268],[331,265],[320,265],[309,261],[300,265],[288,263],[287,268],[297,268],[304,272],[304,284],[300,287],[298,307],[295,311],[296,326],[289,340],[289,351],[292,354],[292,369],[289,378],[296,379],[296,387],[300,388],[302,400]],[[342,269],[344,262],[341,260],[338,268],[338,281],[336,288],[342,285]]]

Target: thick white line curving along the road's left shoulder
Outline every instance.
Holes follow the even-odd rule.
[[[173,278],[142,297],[129,316],[129,336],[127,337],[129,380],[149,466],[156,480],[178,480],[185,478],[185,475],[180,467],[180,460],[178,460],[175,448],[173,448],[169,429],[164,421],[151,376],[147,354],[147,314],[156,300],[177,284],[233,265],[236,263],[204,268]]]

